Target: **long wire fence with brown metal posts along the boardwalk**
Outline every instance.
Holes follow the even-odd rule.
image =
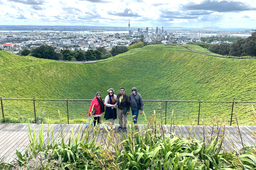
[[[91,99],[7,99],[0,98],[0,120],[33,120],[44,122],[86,122]],[[252,105],[256,101],[188,101],[188,100],[143,100],[146,118],[139,116],[139,123],[147,122],[156,111],[163,124],[211,124],[213,117],[226,121],[226,125],[255,125]],[[58,112],[58,110],[60,112]],[[172,118],[173,112],[173,118]],[[59,114],[60,113],[60,114]],[[104,121],[102,119],[102,121]]]

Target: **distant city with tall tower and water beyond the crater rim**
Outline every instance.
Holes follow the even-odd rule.
[[[204,43],[202,37],[241,37],[251,36],[253,30],[220,30],[216,28],[185,29],[165,27],[84,27],[84,26],[38,26],[38,25],[0,25],[0,49],[13,54],[23,49],[33,49],[41,45],[53,46],[55,52],[61,49],[87,51],[104,47],[107,51],[114,46],[129,46],[133,41],[151,43]],[[212,44],[231,43],[213,41]]]

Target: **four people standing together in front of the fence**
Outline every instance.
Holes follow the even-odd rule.
[[[143,101],[141,95],[138,93],[137,88],[133,87],[130,96],[125,94],[125,89],[120,88],[118,95],[114,95],[114,89],[108,89],[108,95],[105,97],[105,102],[103,103],[101,99],[101,93],[97,92],[96,96],[93,98],[90,109],[89,117],[91,116],[93,108],[97,108],[95,115],[93,116],[93,124],[100,124],[100,117],[102,113],[105,112],[104,118],[107,120],[108,128],[111,127],[115,129],[115,120],[118,115],[119,127],[118,130],[127,130],[127,115],[130,114],[130,107],[132,110],[133,123],[137,124],[139,111],[142,114],[143,111]],[[111,126],[110,126],[111,125]],[[137,126],[136,126],[137,128]],[[100,127],[102,129],[102,127]]]

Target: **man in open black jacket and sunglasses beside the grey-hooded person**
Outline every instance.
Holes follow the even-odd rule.
[[[126,131],[126,124],[127,124],[127,115],[130,113],[130,98],[128,95],[125,94],[124,88],[120,88],[120,92],[117,95],[117,114],[119,119],[119,127],[118,130],[121,130],[124,127]],[[123,123],[124,118],[124,123]]]

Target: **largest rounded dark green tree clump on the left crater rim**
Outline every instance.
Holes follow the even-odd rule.
[[[57,53],[54,51],[54,48],[48,45],[42,45],[40,47],[37,47],[31,50],[31,56],[37,57],[37,58],[58,60]]]

